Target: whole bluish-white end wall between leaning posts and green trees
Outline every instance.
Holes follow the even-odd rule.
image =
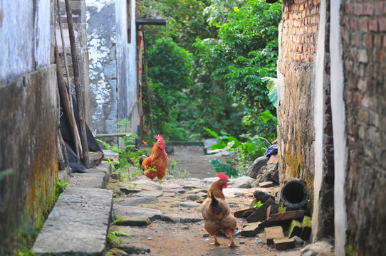
[[[130,43],[127,41],[127,0],[86,0],[90,60],[90,127],[114,133],[129,118],[137,132],[135,0],[130,1]],[[105,129],[100,131],[100,129]],[[130,131],[131,132],[131,131]]]

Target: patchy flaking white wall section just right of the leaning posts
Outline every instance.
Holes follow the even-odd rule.
[[[117,26],[114,0],[86,0],[90,128],[117,132]],[[118,53],[117,53],[118,54]]]

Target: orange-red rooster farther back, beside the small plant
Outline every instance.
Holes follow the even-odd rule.
[[[140,158],[140,166],[145,171],[145,176],[152,181],[155,177],[158,182],[162,182],[162,178],[166,175],[167,154],[165,151],[165,139],[159,134],[155,137],[157,142],[152,147],[152,154],[149,157],[142,156]]]

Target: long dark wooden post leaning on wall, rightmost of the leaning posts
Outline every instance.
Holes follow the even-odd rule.
[[[88,142],[85,130],[85,114],[83,105],[83,92],[80,85],[78,52],[76,51],[75,32],[73,27],[73,11],[71,10],[71,0],[64,0],[66,4],[68,35],[70,36],[71,57],[73,59],[73,73],[75,80],[76,103],[78,105],[78,118],[80,127],[80,142],[82,143],[82,162],[85,168],[90,168],[90,156],[88,155]]]

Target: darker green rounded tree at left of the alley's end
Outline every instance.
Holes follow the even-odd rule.
[[[165,138],[187,139],[189,131],[177,124],[188,104],[186,90],[192,84],[192,54],[177,46],[172,38],[160,38],[148,49],[147,58],[153,106],[148,114],[152,114],[155,132]]]

